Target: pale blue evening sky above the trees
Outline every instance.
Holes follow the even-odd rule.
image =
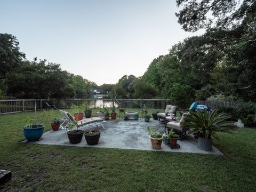
[[[142,76],[182,39],[174,0],[0,0],[0,33],[12,34],[26,58],[60,63],[101,85]]]

